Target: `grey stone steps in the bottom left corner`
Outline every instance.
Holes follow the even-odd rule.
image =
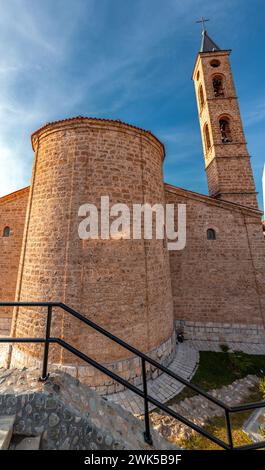
[[[0,416],[0,450],[39,450],[41,436],[28,437],[13,434],[16,416]]]

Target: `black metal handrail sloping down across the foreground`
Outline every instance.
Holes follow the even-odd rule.
[[[219,445],[223,449],[226,449],[226,450],[233,450],[233,449],[250,450],[250,449],[261,449],[261,448],[265,447],[265,441],[256,442],[256,443],[253,443],[253,444],[248,444],[248,445],[244,445],[244,446],[240,446],[240,447],[234,447],[232,428],[231,428],[231,419],[230,419],[230,415],[233,414],[233,413],[248,411],[248,410],[254,410],[254,409],[265,407],[265,401],[258,402],[258,403],[242,404],[242,405],[237,405],[237,406],[228,406],[227,404],[225,404],[222,401],[218,400],[217,398],[213,397],[209,393],[204,392],[197,385],[194,385],[194,384],[188,382],[187,380],[183,379],[180,375],[175,374],[170,369],[168,369],[168,368],[164,367],[163,365],[159,364],[158,362],[156,362],[151,357],[149,357],[146,354],[138,351],[133,346],[130,346],[129,344],[125,343],[125,341],[121,340],[120,338],[117,338],[117,336],[114,336],[109,331],[105,330],[101,326],[99,326],[96,323],[92,322],[91,320],[87,319],[86,317],[84,317],[83,315],[81,315],[80,313],[76,312],[71,307],[68,307],[67,305],[65,305],[63,303],[60,303],[60,302],[0,302],[0,307],[46,307],[47,310],[48,310],[48,313],[47,313],[47,321],[46,321],[45,338],[11,338],[11,337],[6,337],[6,338],[0,338],[0,343],[39,343],[39,344],[44,344],[42,375],[40,377],[41,381],[46,381],[49,377],[49,373],[48,373],[49,346],[50,346],[50,344],[58,344],[62,348],[66,349],[67,351],[74,354],[79,359],[82,359],[87,364],[95,367],[97,370],[99,370],[103,374],[106,374],[111,379],[115,380],[119,384],[123,385],[125,388],[131,390],[136,395],[143,398],[143,401],[144,401],[144,418],[145,418],[144,439],[148,444],[152,445],[152,435],[151,435],[151,431],[150,431],[150,416],[149,416],[149,403],[151,403],[156,408],[159,408],[160,410],[164,411],[166,414],[168,414],[168,415],[172,416],[173,418],[177,419],[178,421],[182,422],[183,424],[190,427],[194,431],[197,431],[198,433],[200,433],[201,435],[203,435],[207,439],[211,440],[215,444]],[[73,347],[72,345],[70,345],[69,343],[64,341],[63,339],[51,337],[52,313],[53,313],[53,308],[54,307],[63,309],[65,312],[69,313],[70,315],[77,318],[81,322],[85,323],[86,325],[90,326],[91,328],[98,331],[102,335],[106,336],[110,340],[114,341],[115,343],[119,344],[123,348],[127,349],[128,351],[133,353],[135,356],[139,357],[141,359],[141,363],[142,363],[143,390],[141,390],[140,388],[137,388],[135,385],[131,384],[128,380],[123,379],[119,375],[117,375],[114,372],[112,372],[111,370],[107,369],[102,364],[99,364],[94,359],[88,357],[86,354],[82,353],[81,351],[79,351],[78,349],[76,349],[75,347]],[[222,441],[221,439],[215,437],[213,434],[210,434],[206,429],[198,426],[197,424],[193,423],[189,419],[185,418],[184,416],[180,415],[176,411],[169,408],[164,403],[161,403],[160,401],[156,400],[152,396],[148,395],[148,382],[147,382],[147,374],[146,374],[146,363],[148,363],[151,366],[159,369],[161,372],[169,375],[170,377],[172,377],[173,379],[175,379],[178,382],[182,383],[186,387],[190,388],[191,390],[193,390],[197,394],[203,396],[207,400],[211,401],[215,405],[222,408],[224,410],[224,413],[225,413],[225,421],[226,421],[226,430],[227,430],[228,442]]]

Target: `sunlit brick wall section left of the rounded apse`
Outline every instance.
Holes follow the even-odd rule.
[[[0,299],[12,302],[15,298],[21,246],[25,225],[29,188],[24,188],[0,199]],[[5,227],[10,236],[4,237]],[[0,335],[10,332],[12,310],[0,308]]]

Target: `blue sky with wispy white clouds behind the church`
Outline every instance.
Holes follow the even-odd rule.
[[[264,0],[0,0],[0,195],[30,182],[30,134],[75,115],[165,144],[165,180],[207,194],[191,73],[204,15],[231,61],[259,202],[265,163]]]

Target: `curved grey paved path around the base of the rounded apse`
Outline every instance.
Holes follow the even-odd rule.
[[[168,367],[170,370],[180,375],[186,380],[191,380],[199,364],[199,351],[193,347],[189,341],[177,344],[177,352],[175,359]],[[139,386],[139,388],[142,387]],[[184,388],[180,382],[174,380],[167,374],[161,374],[154,380],[148,381],[148,394],[162,403],[166,403],[171,398],[178,395]],[[131,390],[107,395],[107,400],[118,403],[127,411],[139,415],[144,412],[143,399],[138,397]],[[154,406],[149,404],[149,409]]]

